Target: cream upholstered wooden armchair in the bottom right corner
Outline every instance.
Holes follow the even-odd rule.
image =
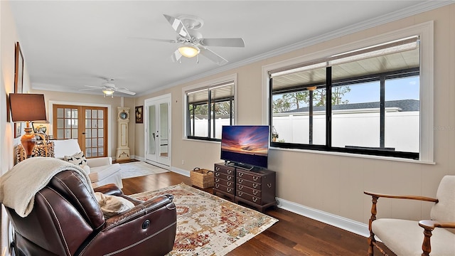
[[[439,183],[437,198],[424,196],[395,196],[365,191],[373,197],[371,218],[368,225],[368,255],[373,256],[373,245],[383,255],[376,241],[379,238],[396,255],[432,256],[455,255],[455,176],[444,176]],[[379,198],[401,198],[433,202],[432,220],[400,220],[392,218],[376,219],[376,204]],[[375,238],[376,237],[376,238]],[[430,240],[431,238],[431,240]]]

